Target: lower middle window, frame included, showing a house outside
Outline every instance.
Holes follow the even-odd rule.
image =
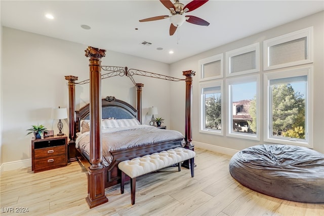
[[[259,138],[259,76],[229,79],[227,135],[260,140]]]

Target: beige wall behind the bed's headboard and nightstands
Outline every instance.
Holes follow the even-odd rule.
[[[51,119],[53,107],[68,106],[66,75],[89,78],[87,45],[72,43],[26,31],[3,27],[2,41],[2,162],[31,158],[31,134],[26,129],[44,124],[58,133],[57,120]],[[99,47],[106,49],[105,47]],[[107,51],[102,65],[128,66],[158,74],[169,75],[169,64]],[[104,71],[102,71],[104,74]],[[160,117],[170,122],[170,82],[134,77],[143,83],[142,121],[148,124],[148,107],[158,107]],[[76,86],[76,109],[89,102],[89,84]],[[136,106],[136,88],[128,77],[113,77],[102,81],[102,97],[115,96]],[[63,132],[68,134],[67,119]]]

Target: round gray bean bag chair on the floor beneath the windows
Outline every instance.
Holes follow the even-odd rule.
[[[258,145],[237,152],[229,171],[240,184],[269,196],[324,203],[324,154],[304,147]]]

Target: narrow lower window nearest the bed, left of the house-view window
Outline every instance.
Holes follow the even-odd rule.
[[[223,135],[222,86],[222,81],[199,84],[201,95],[199,132]]]

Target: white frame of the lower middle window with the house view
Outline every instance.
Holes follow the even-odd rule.
[[[233,101],[232,101],[232,90],[231,85],[235,84],[242,84],[242,83],[249,83],[249,82],[256,82],[256,118],[257,118],[257,133],[255,135],[249,135],[245,133],[239,133],[233,131]],[[226,104],[227,104],[227,120],[226,120],[226,136],[229,137],[236,137],[242,139],[250,139],[250,140],[260,140],[260,75],[252,75],[252,76],[245,76],[239,78],[231,78],[226,80]]]

